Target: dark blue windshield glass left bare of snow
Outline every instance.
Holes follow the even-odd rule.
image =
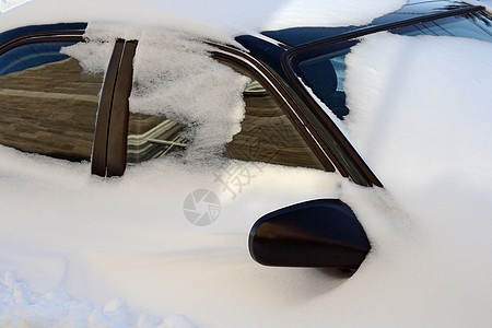
[[[399,35],[459,36],[492,42],[492,17],[485,12],[450,16],[390,30]],[[302,82],[340,119],[349,114],[343,81],[345,55],[356,39],[329,44],[294,57],[293,68]]]

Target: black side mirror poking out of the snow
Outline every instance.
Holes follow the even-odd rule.
[[[339,199],[273,211],[249,233],[249,253],[265,266],[358,269],[370,249],[361,223]]]

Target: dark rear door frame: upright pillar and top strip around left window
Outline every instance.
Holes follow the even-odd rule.
[[[0,56],[20,46],[36,43],[83,43],[86,23],[30,25],[0,34]],[[99,176],[121,176],[126,166],[128,97],[131,91],[136,40],[116,39],[102,83],[94,131],[91,172]]]

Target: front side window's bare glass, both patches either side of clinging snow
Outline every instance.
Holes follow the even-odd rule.
[[[325,169],[273,97],[243,69],[251,82],[244,91],[242,130],[225,145],[225,156],[242,161]],[[164,116],[130,113],[127,164],[184,152],[189,130]]]

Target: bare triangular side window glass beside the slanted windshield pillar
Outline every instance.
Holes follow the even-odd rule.
[[[242,130],[226,144],[225,155],[241,161],[325,171],[272,94],[244,69],[236,66],[233,69],[251,81],[243,94],[246,113]]]

